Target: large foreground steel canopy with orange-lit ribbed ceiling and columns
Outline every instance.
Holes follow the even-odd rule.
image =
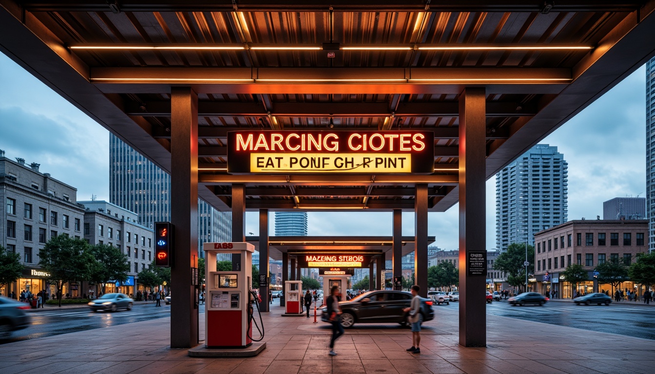
[[[179,259],[196,196],[234,241],[246,210],[393,211],[394,240],[415,212],[417,269],[427,212],[460,202],[460,343],[479,346],[462,264],[485,250],[485,180],[655,55],[655,1],[490,3],[0,0],[0,50],[172,174]],[[432,131],[434,173],[231,175],[234,130]],[[188,301],[172,346],[195,337]]]

